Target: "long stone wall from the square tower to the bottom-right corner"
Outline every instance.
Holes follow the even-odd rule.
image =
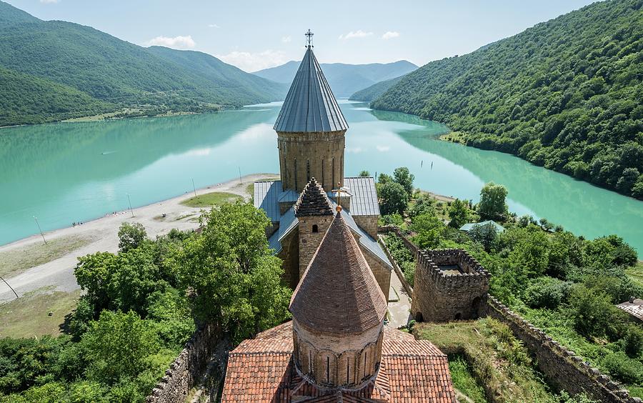
[[[617,382],[590,367],[581,357],[519,317],[494,297],[488,297],[484,308],[487,316],[498,319],[512,329],[514,335],[534,354],[542,373],[558,389],[564,389],[572,395],[585,392],[599,402],[642,402],[638,397],[630,397],[627,390],[622,389]]]

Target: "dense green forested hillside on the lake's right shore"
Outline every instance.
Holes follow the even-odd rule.
[[[444,122],[470,146],[643,199],[642,6],[595,3],[433,61],[372,106]]]

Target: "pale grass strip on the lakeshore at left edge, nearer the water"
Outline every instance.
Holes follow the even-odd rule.
[[[36,242],[21,248],[0,252],[0,276],[14,277],[16,274],[41,264],[59,259],[81,247],[91,244],[92,237],[70,235],[49,239],[47,244]]]

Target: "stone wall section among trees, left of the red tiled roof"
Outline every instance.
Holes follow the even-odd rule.
[[[185,402],[190,389],[205,369],[220,336],[221,332],[212,324],[204,325],[194,332],[179,356],[166,370],[165,376],[152,389],[146,402]]]

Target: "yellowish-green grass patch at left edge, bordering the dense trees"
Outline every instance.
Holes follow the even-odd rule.
[[[51,291],[44,287],[0,307],[0,337],[39,337],[60,334],[65,317],[76,309],[80,290]],[[49,312],[52,312],[49,316]]]

